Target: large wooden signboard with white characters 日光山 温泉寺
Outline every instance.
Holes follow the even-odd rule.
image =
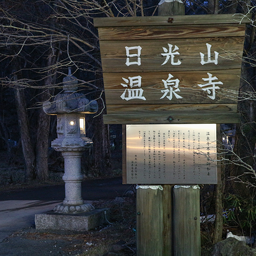
[[[237,14],[95,18],[105,123],[237,123]]]

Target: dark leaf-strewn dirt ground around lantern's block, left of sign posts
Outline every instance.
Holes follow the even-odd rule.
[[[110,208],[109,223],[93,230],[38,231],[35,227],[18,230],[0,243],[8,256],[130,256],[136,255],[135,197],[93,202],[96,208]]]

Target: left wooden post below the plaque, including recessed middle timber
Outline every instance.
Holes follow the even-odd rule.
[[[138,256],[172,255],[172,186],[159,187],[137,189]]]

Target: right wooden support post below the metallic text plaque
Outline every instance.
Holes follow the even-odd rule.
[[[200,188],[175,185],[174,255],[200,256]]]

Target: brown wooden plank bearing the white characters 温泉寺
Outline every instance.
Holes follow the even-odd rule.
[[[160,99],[165,90],[164,83],[162,81],[168,78],[168,72],[144,72],[134,73],[134,76],[141,76],[141,89],[143,90],[143,96],[146,100],[131,99],[125,100],[121,98],[125,88],[121,83],[125,84],[122,78],[128,78],[130,73],[104,73],[104,88],[105,99],[107,105],[132,105],[132,104],[212,104],[212,103],[235,103],[237,102],[237,95],[230,94],[230,90],[238,90],[240,77],[238,73],[240,70],[218,70],[208,71],[213,76],[216,76],[218,80],[223,84],[219,84],[220,89],[216,91],[216,98],[212,100],[208,97],[208,93],[203,91],[198,84],[205,84],[202,78],[208,78],[206,71],[184,71],[184,72],[170,72],[173,75],[173,79],[179,79],[179,90],[177,94],[183,98],[176,98],[173,95],[172,100],[167,97]],[[127,89],[131,89],[129,84]],[[169,93],[167,94],[167,96]],[[211,96],[211,94],[209,95]],[[127,93],[126,93],[127,97]]]

